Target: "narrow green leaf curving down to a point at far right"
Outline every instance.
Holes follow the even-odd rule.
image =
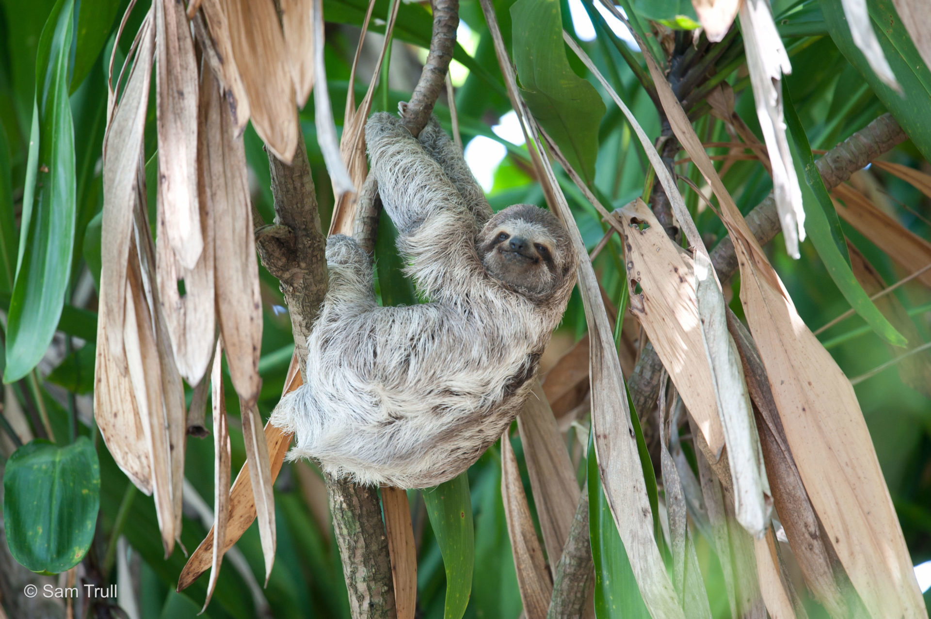
[[[904,346],[907,341],[892,324],[886,320],[883,313],[870,301],[870,295],[860,286],[857,276],[850,268],[850,257],[847,254],[846,243],[843,240],[841,222],[837,212],[830,201],[828,190],[821,180],[821,175],[815,165],[808,138],[799,120],[792,99],[789,95],[789,86],[783,82],[784,115],[789,130],[789,147],[792,151],[792,161],[799,179],[803,180],[802,203],[805,209],[805,231],[817,250],[818,257],[824,262],[831,279],[841,290],[843,298],[850,303],[857,314],[862,316],[872,330],[886,342],[896,346]]]

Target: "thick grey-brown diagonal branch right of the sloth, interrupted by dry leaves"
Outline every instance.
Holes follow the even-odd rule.
[[[888,152],[905,139],[905,133],[898,126],[892,114],[883,114],[818,159],[816,162],[818,172],[830,191],[849,179],[854,172],[864,168],[872,159]],[[767,195],[751,210],[746,220],[750,231],[761,245],[773,240],[773,237],[781,230],[773,194]],[[737,271],[737,258],[734,252],[734,242],[730,237],[723,238],[717,247],[711,250],[710,256],[711,263],[722,283],[734,276]],[[633,373],[627,380],[630,397],[633,398],[634,406],[641,419],[644,435],[647,434],[647,426],[654,424],[655,415],[652,411],[656,397],[659,395],[659,376],[662,368],[663,364],[656,356],[653,344],[647,343]],[[658,443],[655,447],[658,449]],[[655,455],[654,461],[658,458],[658,454]],[[651,451],[651,457],[653,456],[654,453]]]

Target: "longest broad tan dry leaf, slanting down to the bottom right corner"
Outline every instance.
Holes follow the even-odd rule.
[[[669,123],[722,205],[735,240],[740,300],[805,490],[860,598],[873,616],[924,616],[892,499],[857,395],[805,326],[695,129],[649,54],[644,56]]]

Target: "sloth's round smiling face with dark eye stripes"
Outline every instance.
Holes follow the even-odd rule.
[[[546,297],[573,275],[569,236],[545,209],[518,204],[495,214],[477,239],[489,274],[533,297]]]

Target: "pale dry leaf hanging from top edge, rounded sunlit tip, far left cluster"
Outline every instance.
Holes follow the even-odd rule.
[[[178,262],[194,269],[204,248],[197,208],[197,62],[182,3],[155,0],[158,209]]]

